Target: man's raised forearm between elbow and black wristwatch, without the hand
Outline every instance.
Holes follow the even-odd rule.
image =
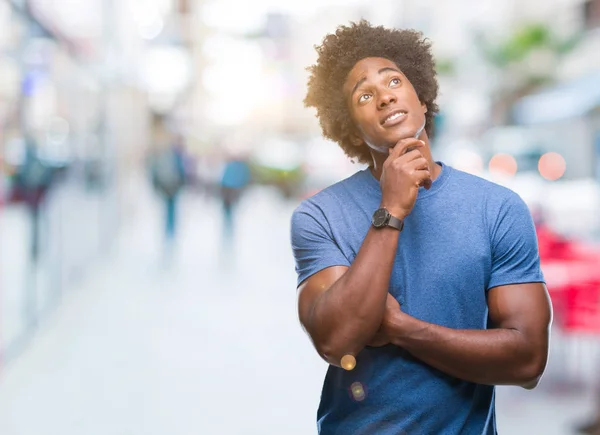
[[[371,228],[348,271],[314,304],[311,336],[328,362],[358,354],[381,325],[399,234]]]

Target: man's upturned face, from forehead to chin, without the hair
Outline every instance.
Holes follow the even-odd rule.
[[[373,150],[387,149],[414,136],[425,121],[412,84],[391,60],[368,57],[354,65],[344,94],[360,138]]]

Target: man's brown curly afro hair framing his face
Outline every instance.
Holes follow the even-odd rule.
[[[348,73],[367,57],[389,59],[400,68],[421,103],[427,106],[425,131],[432,135],[433,119],[439,110],[435,102],[438,82],[431,43],[420,32],[374,27],[361,20],[338,27],[315,49],[318,58],[316,64],[307,68],[310,76],[304,104],[317,109],[323,135],[337,142],[348,157],[372,163],[369,148],[351,142],[353,122],[343,93]]]

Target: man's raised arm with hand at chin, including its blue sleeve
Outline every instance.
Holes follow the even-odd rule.
[[[398,218],[410,213],[419,185],[430,178],[428,162],[417,149],[403,153],[409,146],[424,144],[409,139],[397,145],[383,166],[380,181],[381,206]],[[323,258],[339,256],[337,245],[318,225],[311,225],[314,221],[292,222],[295,255],[301,264],[324,265]],[[300,322],[319,355],[330,364],[340,366],[343,356],[357,355],[379,329],[398,237],[394,228],[370,228],[349,267],[329,263],[333,267],[321,268],[300,284]]]

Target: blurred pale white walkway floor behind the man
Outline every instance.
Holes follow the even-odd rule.
[[[293,206],[257,191],[238,239],[218,204],[187,198],[160,255],[155,205],[73,291],[0,381],[2,435],[308,435],[326,365],[296,313]],[[500,389],[501,434],[569,434],[590,402]]]

